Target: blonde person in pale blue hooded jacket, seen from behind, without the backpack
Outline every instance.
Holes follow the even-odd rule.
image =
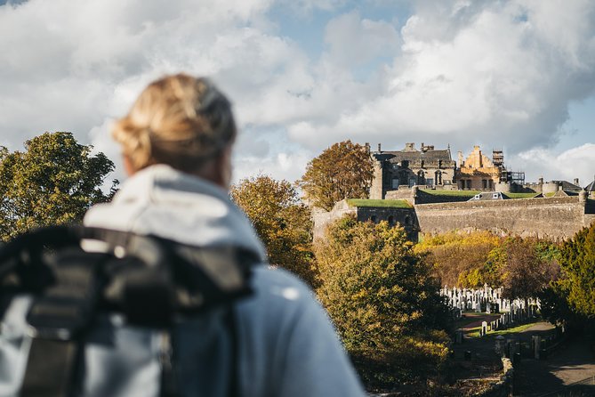
[[[185,74],[151,83],[117,121],[129,178],[84,224],[154,234],[183,244],[231,244],[253,251],[253,295],[237,301],[237,363],[222,311],[176,326],[173,368],[181,395],[363,396],[326,312],[301,280],[266,264],[265,249],[229,199],[237,136],[231,105],[206,78]],[[157,396],[159,334],[114,326],[86,349],[84,395]],[[235,369],[234,369],[235,368]],[[233,377],[237,385],[233,386]]]

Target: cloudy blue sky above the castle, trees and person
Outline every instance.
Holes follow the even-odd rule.
[[[235,181],[293,182],[334,142],[504,150],[527,182],[595,177],[591,0],[0,0],[0,145],[109,126],[150,81],[234,105]]]

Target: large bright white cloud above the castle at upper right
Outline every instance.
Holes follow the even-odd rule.
[[[513,152],[557,142],[569,101],[595,90],[595,4],[431,4],[402,28],[402,54],[383,70],[379,91],[356,109],[292,126],[301,132],[293,138],[323,144],[350,131],[462,148],[472,139]]]

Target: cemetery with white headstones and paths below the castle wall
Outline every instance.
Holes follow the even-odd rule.
[[[519,370],[547,361],[566,341],[563,327],[539,318],[539,301],[503,298],[502,288],[441,288],[455,320],[456,384],[483,396],[518,395]],[[522,362],[522,363],[521,363]],[[516,372],[515,372],[516,371]],[[519,379],[520,378],[520,379]]]

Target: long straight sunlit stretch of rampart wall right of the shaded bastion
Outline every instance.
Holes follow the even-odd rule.
[[[421,204],[415,212],[422,233],[429,234],[486,230],[559,240],[593,221],[578,197]]]

